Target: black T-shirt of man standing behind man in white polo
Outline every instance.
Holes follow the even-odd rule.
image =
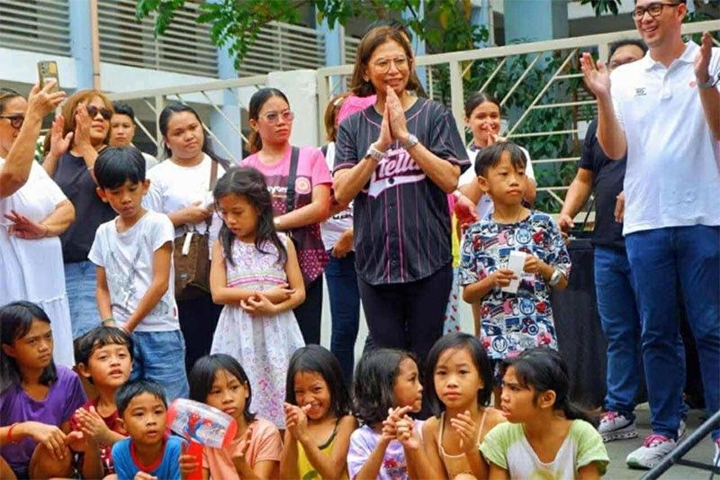
[[[598,120],[590,122],[578,166],[593,173],[595,192],[595,230],[592,242],[603,247],[625,249],[623,224],[615,221],[617,195],[623,191],[626,158],[613,160],[605,155],[598,142]]]

